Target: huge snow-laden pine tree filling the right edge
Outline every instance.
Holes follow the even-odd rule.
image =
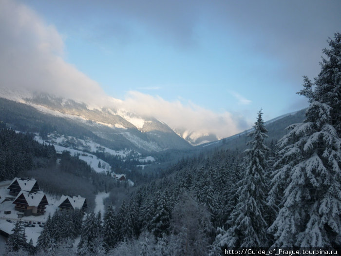
[[[270,203],[281,202],[269,228],[274,246],[341,245],[340,41],[340,33],[329,39],[331,49],[323,50],[328,59],[315,83],[304,78],[299,94],[309,98],[306,118],[289,126],[278,143],[280,159],[269,194]]]

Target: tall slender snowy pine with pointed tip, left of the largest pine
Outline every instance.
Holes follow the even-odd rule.
[[[242,169],[243,179],[237,191],[238,204],[229,218],[229,228],[221,236],[220,245],[228,247],[265,247],[267,246],[264,219],[266,208],[265,153],[268,148],[263,143],[267,137],[262,111],[259,111],[254,131],[249,136],[254,139],[247,144]]]

